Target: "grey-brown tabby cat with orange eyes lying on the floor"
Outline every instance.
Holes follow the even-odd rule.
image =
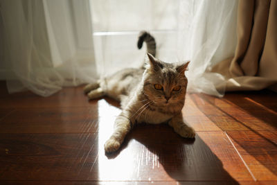
[[[195,130],[184,123],[184,107],[188,80],[188,63],[166,63],[154,57],[156,42],[150,33],[142,31],[138,47],[147,44],[146,66],[123,69],[84,87],[89,99],[109,96],[120,101],[122,112],[117,116],[114,132],[105,142],[105,152],[115,152],[126,134],[139,123],[168,123],[185,138],[194,138]]]

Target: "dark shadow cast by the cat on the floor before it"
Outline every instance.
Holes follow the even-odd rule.
[[[120,150],[113,154],[106,154],[107,157],[114,158],[120,155],[121,151],[127,150],[133,139],[156,155],[158,166],[162,166],[166,173],[177,181],[188,179],[192,181],[228,181],[231,184],[238,184],[224,170],[220,159],[213,154],[199,136],[196,136],[195,139],[184,139],[166,124],[137,125],[127,134]],[[154,168],[159,168],[158,166],[154,166]]]

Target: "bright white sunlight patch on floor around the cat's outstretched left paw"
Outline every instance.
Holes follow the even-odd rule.
[[[120,109],[102,99],[98,101],[98,179],[99,180],[153,180],[155,173],[164,173],[162,176],[170,178],[159,162],[159,156],[148,150],[136,139],[130,139],[123,144],[118,154],[109,157],[105,155],[104,143],[113,132],[114,121],[120,114]],[[152,173],[149,173],[149,170]],[[143,179],[141,179],[143,177]]]

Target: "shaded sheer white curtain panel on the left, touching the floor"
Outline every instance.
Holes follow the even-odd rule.
[[[49,96],[96,80],[89,1],[2,0],[8,91]],[[3,76],[3,74],[1,75]]]

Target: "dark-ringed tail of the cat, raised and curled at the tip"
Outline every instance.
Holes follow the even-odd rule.
[[[146,42],[148,53],[155,56],[156,55],[156,41],[150,33],[146,31],[141,31],[139,33],[138,48],[141,49],[143,42]]]

